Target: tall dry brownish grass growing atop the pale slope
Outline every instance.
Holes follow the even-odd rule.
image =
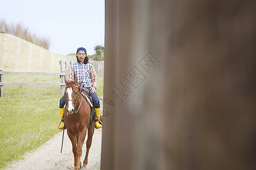
[[[31,42],[35,45],[41,46],[44,49],[49,50],[51,41],[48,37],[40,37],[36,33],[30,32],[28,27],[24,27],[22,23],[7,23],[6,20],[0,20],[0,31],[4,33],[10,33],[20,39]]]

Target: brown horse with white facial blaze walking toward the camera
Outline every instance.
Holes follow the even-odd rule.
[[[65,105],[67,109],[64,113],[64,125],[65,128],[67,128],[68,137],[73,147],[75,170],[81,168],[80,158],[82,155],[82,145],[84,144],[86,130],[88,129],[86,155],[82,165],[82,169],[86,169],[95,124],[93,122],[93,124],[88,126],[90,120],[90,106],[79,91],[80,84],[77,84],[77,79],[71,82],[67,82],[65,79],[65,83],[67,86],[65,88]]]

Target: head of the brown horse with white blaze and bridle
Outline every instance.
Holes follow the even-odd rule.
[[[65,100],[66,108],[68,114],[72,114],[75,111],[76,102],[79,96],[79,84],[77,84],[77,79],[75,81],[68,82],[65,79],[66,88],[65,88]]]

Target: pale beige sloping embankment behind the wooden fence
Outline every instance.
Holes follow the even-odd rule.
[[[0,69],[4,71],[60,72],[60,59],[74,59],[49,52],[9,33],[0,33]]]

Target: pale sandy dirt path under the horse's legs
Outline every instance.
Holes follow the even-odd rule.
[[[101,129],[95,129],[93,135],[92,146],[89,151],[88,158],[88,169],[97,169],[100,167],[101,161]],[[62,154],[60,153],[61,140],[62,140],[63,131],[56,134],[52,139],[44,143],[40,148],[34,152],[29,152],[25,155],[24,160],[19,162],[12,163],[8,169],[73,169],[73,152],[71,141],[68,138],[67,131],[65,130],[63,150]],[[86,135],[87,136],[87,135]],[[87,138],[87,137],[86,137]],[[86,140],[85,138],[85,140]],[[86,142],[86,141],[85,141]],[[81,162],[83,162],[86,151],[86,143],[82,147],[82,157]]]

